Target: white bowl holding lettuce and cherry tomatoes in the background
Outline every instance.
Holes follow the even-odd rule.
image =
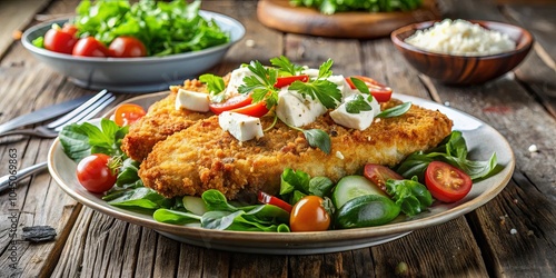
[[[182,83],[183,79],[195,78],[206,72],[245,36],[245,27],[234,18],[211,11],[199,13],[205,19],[215,20],[222,31],[229,33],[230,41],[199,51],[142,58],[75,57],[32,44],[36,38],[44,36],[52,23],[62,26],[68,21],[63,19],[29,28],[23,32],[21,42],[38,60],[68,76],[79,87],[128,93],[161,91],[167,90],[171,85]]]

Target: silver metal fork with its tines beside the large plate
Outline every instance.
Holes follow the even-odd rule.
[[[115,99],[116,97],[111,92],[102,90],[95,97],[89,99],[87,102],[82,103],[80,107],[48,125],[39,126],[36,128],[11,130],[1,133],[0,137],[21,135],[34,136],[40,138],[56,138],[64,126],[68,126],[70,123],[82,123],[87,120],[90,120],[108,105],[110,105]]]

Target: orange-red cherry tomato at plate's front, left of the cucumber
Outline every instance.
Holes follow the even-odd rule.
[[[330,215],[325,200],[318,196],[301,198],[291,209],[289,218],[291,231],[322,231],[330,227]]]

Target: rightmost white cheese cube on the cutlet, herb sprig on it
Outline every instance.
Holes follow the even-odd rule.
[[[368,96],[368,95],[367,95]],[[364,97],[367,97],[364,96]],[[336,110],[330,112],[330,117],[332,120],[346,128],[353,128],[358,130],[365,130],[373,123],[375,116],[380,112],[380,106],[377,100],[373,98],[371,102],[367,101],[367,98],[364,98],[367,103],[373,108],[369,111],[359,111],[358,113],[350,113],[346,110],[346,102],[354,100],[357,95],[346,98],[346,101],[341,103]]]

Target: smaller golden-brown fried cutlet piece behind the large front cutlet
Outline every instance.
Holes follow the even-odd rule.
[[[195,112],[186,109],[176,110],[178,89],[206,92],[207,88],[198,80],[186,80],[183,86],[171,87],[170,95],[153,103],[147,115],[129,127],[121,149],[128,157],[142,161],[152,147],[177,131],[189,128],[198,120],[212,116],[211,112]]]

